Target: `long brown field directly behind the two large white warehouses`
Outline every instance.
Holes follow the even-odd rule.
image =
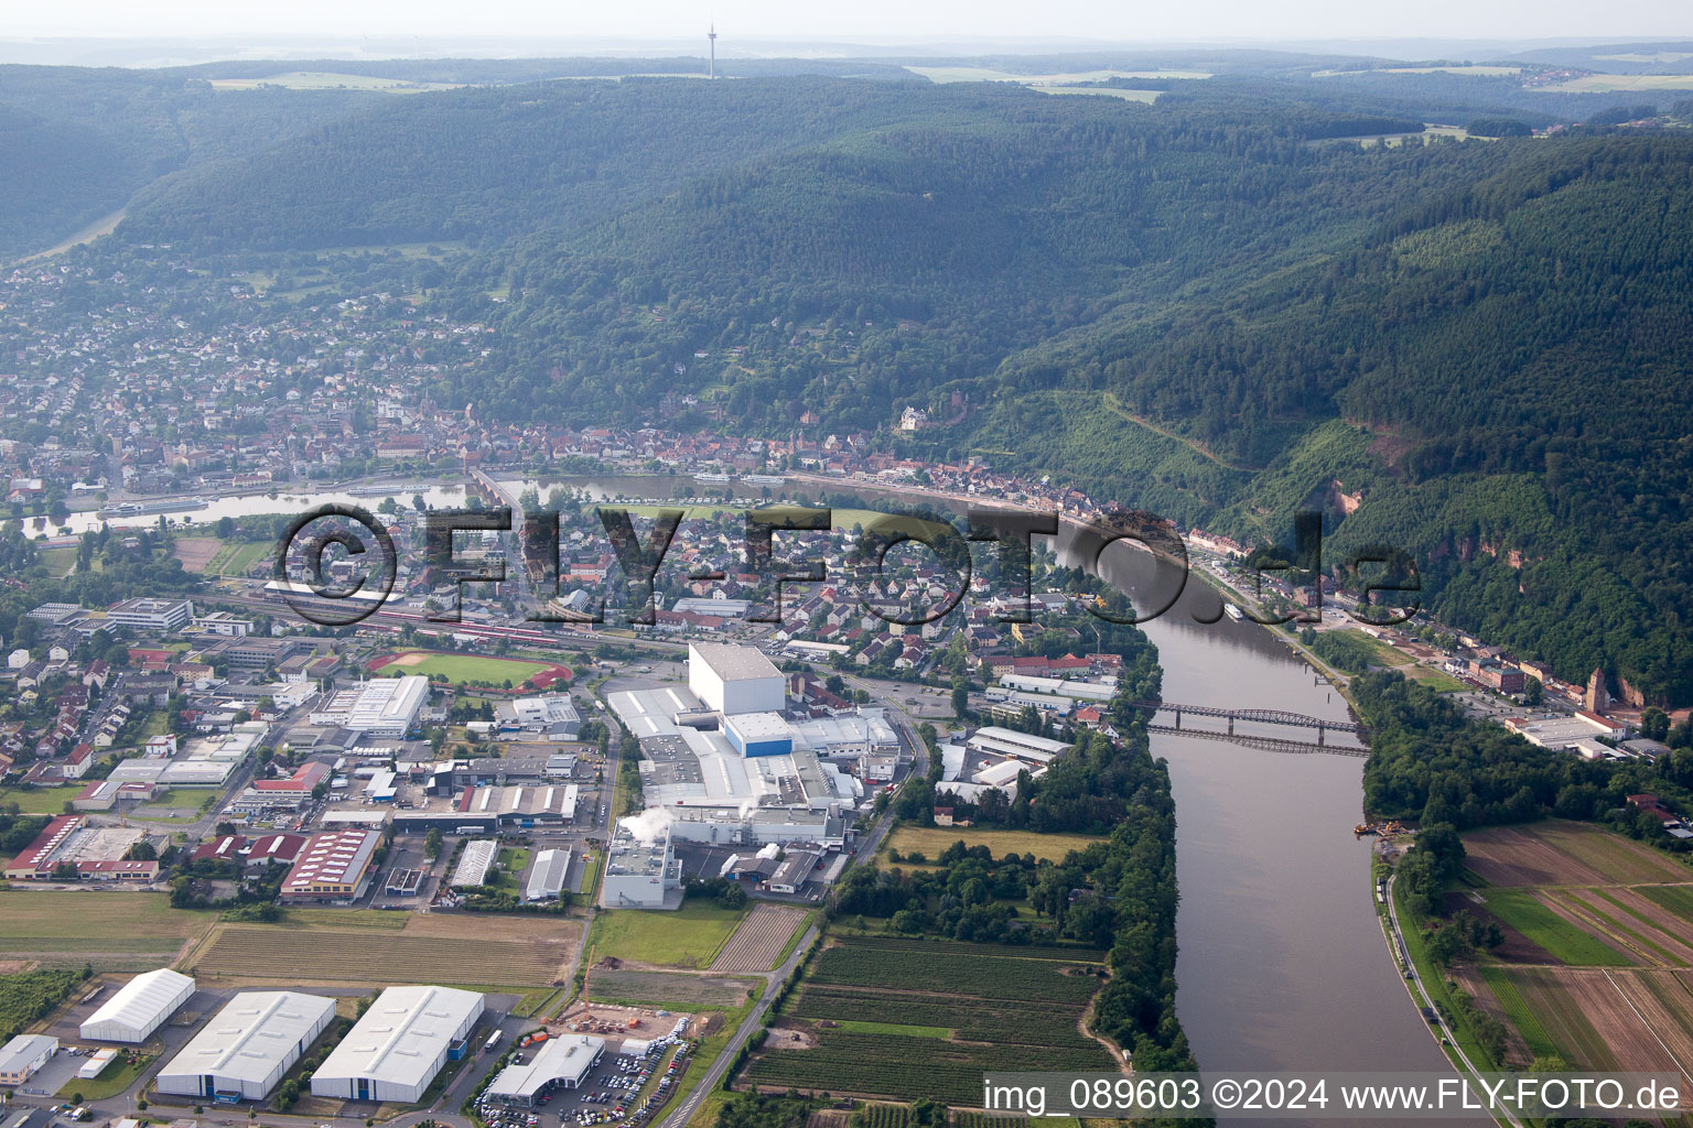
[[[398,913],[396,913],[398,915]],[[523,939],[486,918],[405,915],[401,928],[303,922],[218,923],[183,964],[218,986],[259,981],[545,988],[565,977],[581,925],[525,920]],[[286,942],[286,959],[278,945]]]

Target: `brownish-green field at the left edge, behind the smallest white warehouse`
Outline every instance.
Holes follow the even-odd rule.
[[[0,959],[146,971],[176,961],[215,918],[171,908],[163,893],[0,891]]]

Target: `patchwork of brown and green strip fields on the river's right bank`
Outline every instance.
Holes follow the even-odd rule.
[[[1520,1043],[1508,1055],[1693,1081],[1693,869],[1571,822],[1495,827],[1464,851],[1483,883],[1468,906],[1507,928],[1478,971]]]

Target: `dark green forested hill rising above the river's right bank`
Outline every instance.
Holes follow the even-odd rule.
[[[1561,676],[1603,666],[1686,702],[1693,137],[1470,156],[1473,179],[1299,269],[1114,316],[997,379],[1062,374],[1246,470],[1131,480],[1144,433],[1124,443],[1095,416],[1053,436],[1048,465],[1243,534],[1285,538],[1292,509],[1326,507],[1334,556],[1414,551],[1448,621]],[[1026,402],[995,414],[979,441],[1041,426]]]

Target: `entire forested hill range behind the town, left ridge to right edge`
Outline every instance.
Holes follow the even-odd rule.
[[[1322,506],[1336,551],[1414,553],[1454,626],[1693,700],[1693,105],[1344,140],[1415,134],[1427,78],[418,95],[174,176],[112,254],[457,238],[479,254],[425,301],[494,333],[437,402],[645,423],[692,394],[672,424],[879,431],[1253,539]],[[892,435],[907,404],[941,423]]]

